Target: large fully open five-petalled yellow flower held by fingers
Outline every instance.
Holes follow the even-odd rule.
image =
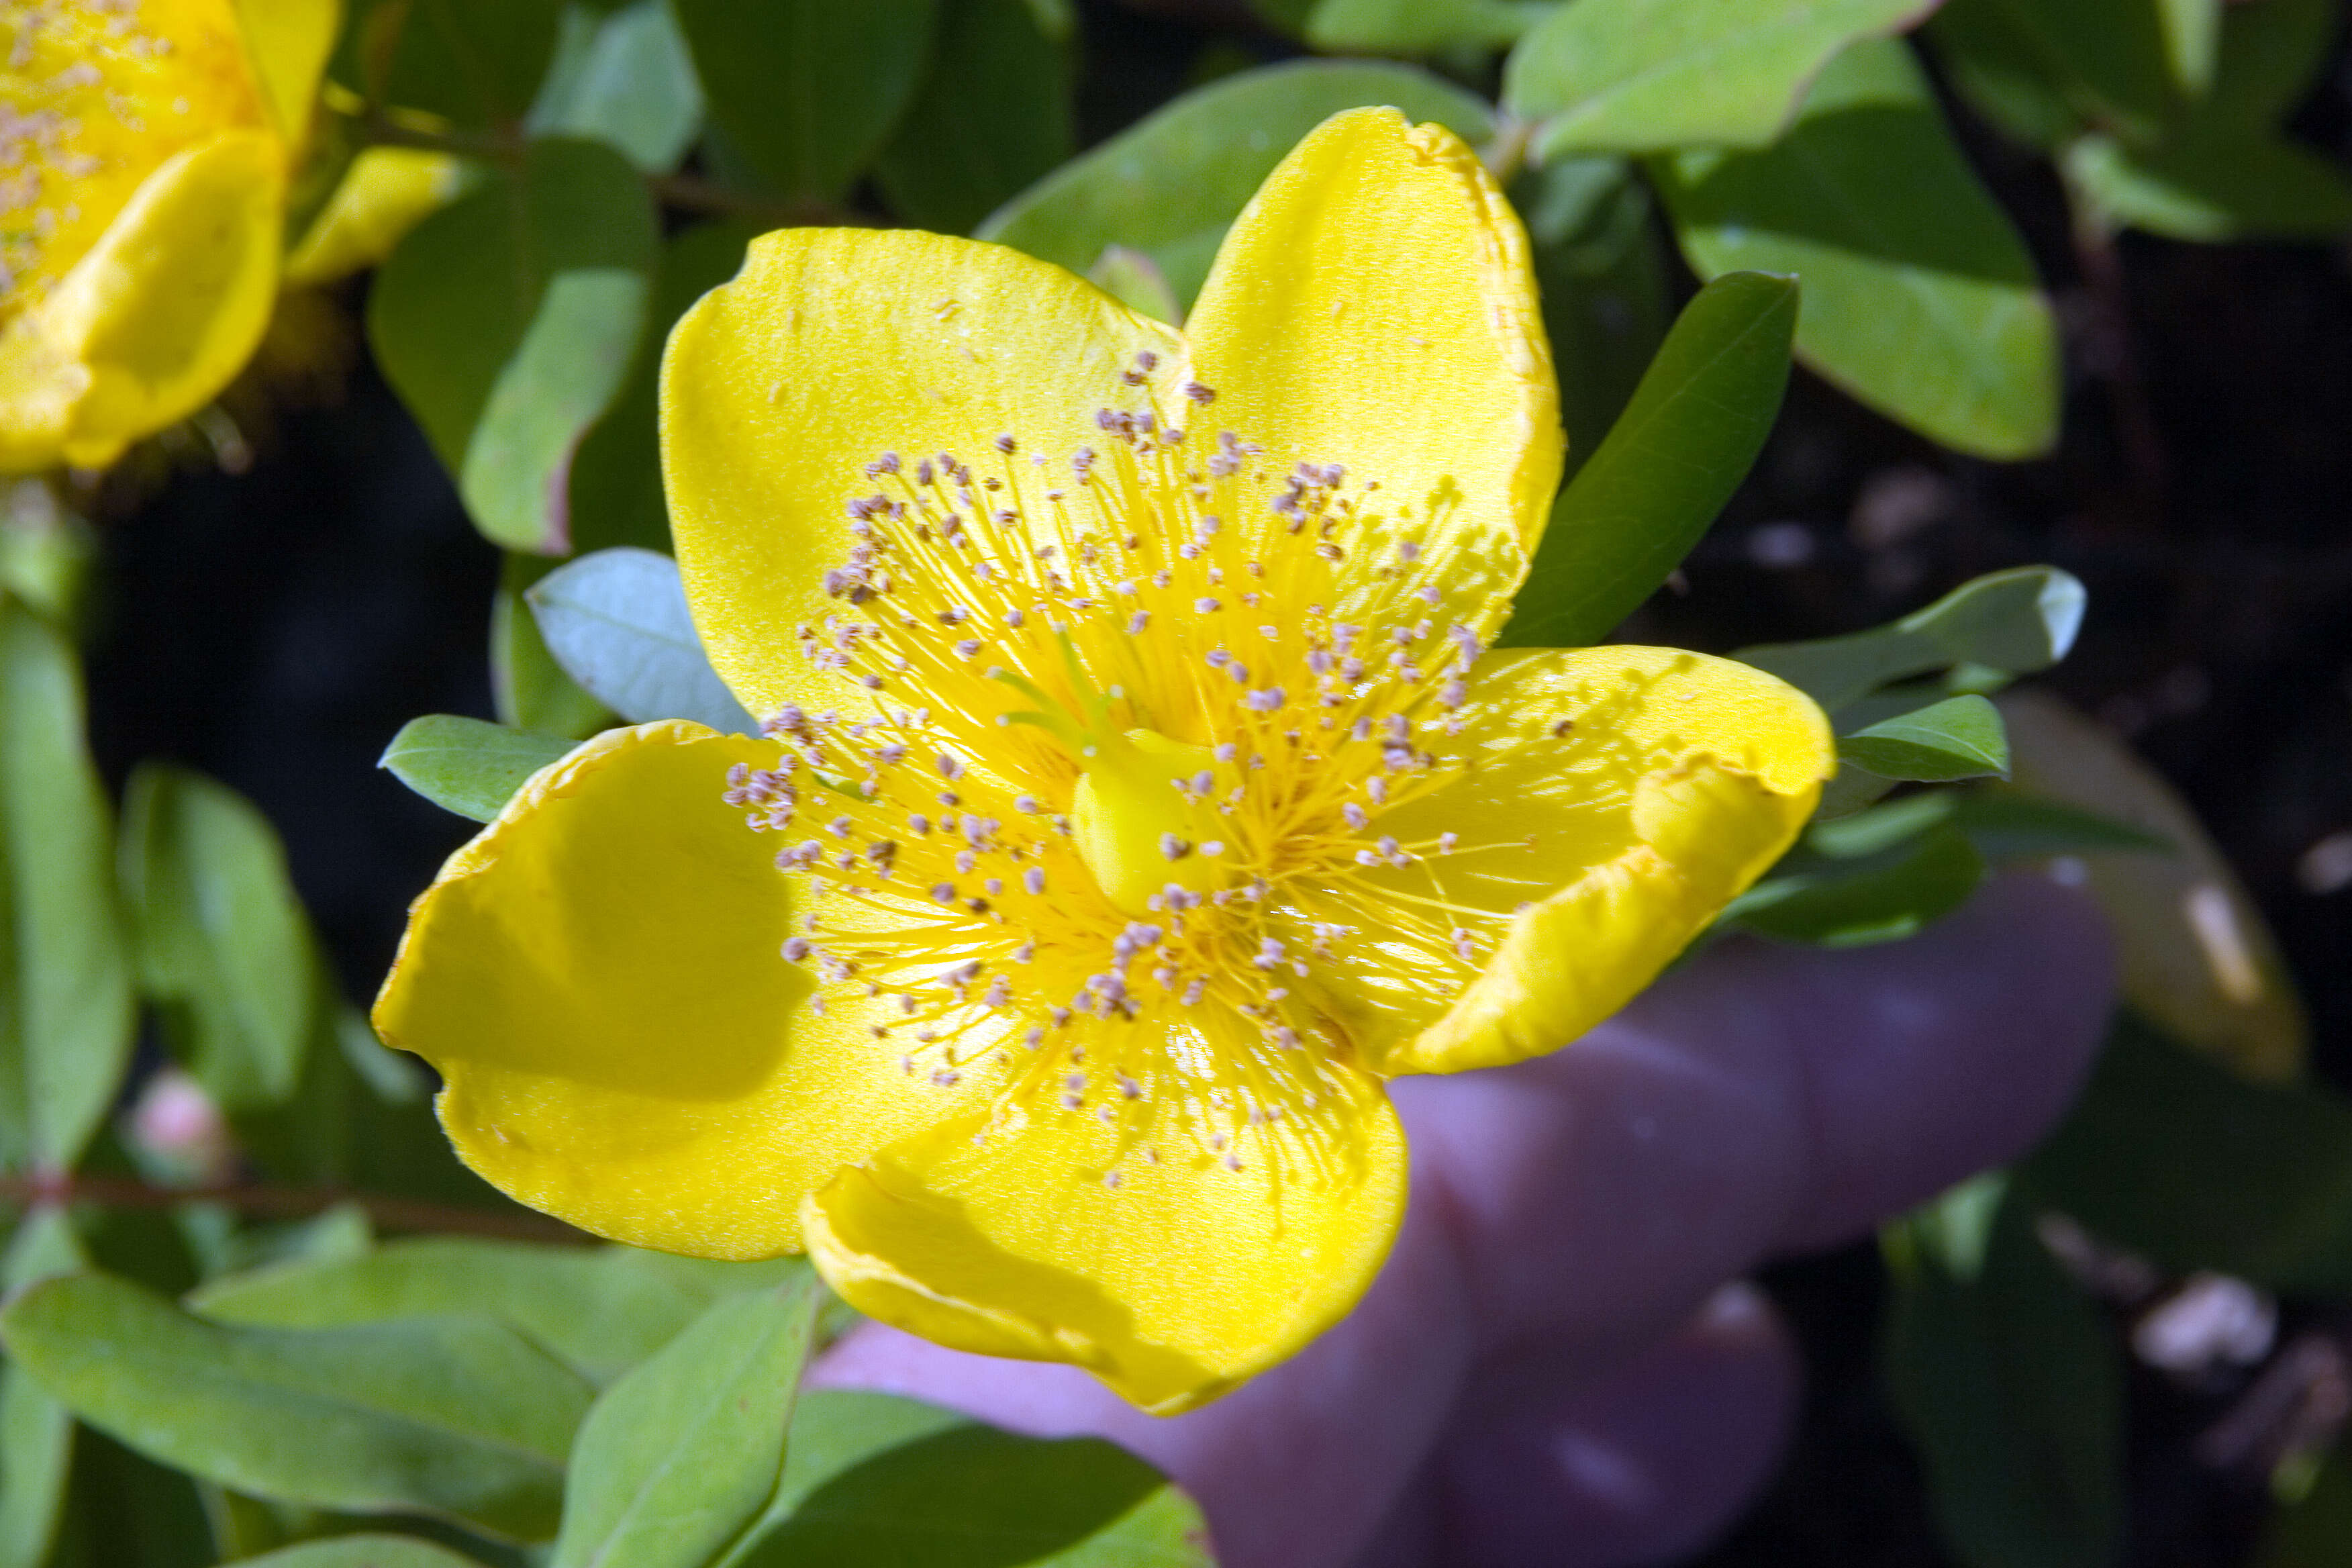
[[[1148,1410],[1364,1291],[1385,1077],[1618,1009],[1832,766],[1745,665],[1484,651],[1557,388],[1517,219],[1395,110],[1289,155],[1183,334],[990,244],[767,235],[670,339],[663,442],[696,625],[774,719],[539,773],[376,1020],[522,1201],[807,1246]]]

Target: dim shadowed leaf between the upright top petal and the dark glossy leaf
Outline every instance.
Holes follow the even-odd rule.
[[[1562,158],[1510,186],[1559,367],[1566,473],[1592,458],[1675,322],[1656,202],[1623,158]]]

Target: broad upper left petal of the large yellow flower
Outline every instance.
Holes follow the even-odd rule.
[[[1160,355],[1157,383],[1181,381],[1174,331],[1000,244],[863,228],[755,240],[677,322],[661,369],[677,564],[743,705],[840,701],[795,632],[837,609],[818,578],[847,548],[844,503],[875,489],[866,463],[953,451],[1000,473],[1000,435],[1021,442],[1014,461],[1068,463],[1101,444],[1094,411],[1138,353]]]

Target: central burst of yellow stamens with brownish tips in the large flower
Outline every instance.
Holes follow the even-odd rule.
[[[1503,936],[1437,896],[1454,832],[1381,832],[1465,766],[1425,743],[1479,642],[1435,618],[1428,510],[1334,465],[1268,473],[1232,433],[1200,451],[1150,409],[1096,423],[1108,458],[1007,435],[995,473],[868,463],[826,574],[842,614],[800,630],[851,712],[776,715],[776,766],[727,799],[821,886],[786,945],[830,983],[814,1006],[866,1009],[910,1074],[985,1058],[1138,1157],[1176,1114],[1240,1168],[1362,1093],[1308,1004],[1319,964],[1378,943],[1458,987]]]

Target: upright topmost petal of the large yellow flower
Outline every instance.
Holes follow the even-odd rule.
[[[1242,209],[1185,336],[1204,418],[1277,470],[1378,480],[1371,512],[1411,508],[1454,616],[1501,623],[1559,487],[1559,393],[1526,233],[1470,148],[1334,115]]]

